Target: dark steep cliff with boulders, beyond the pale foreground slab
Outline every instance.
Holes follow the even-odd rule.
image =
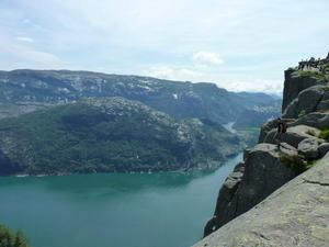
[[[316,66],[285,71],[282,110],[288,117],[288,130],[282,136],[282,145],[276,146],[277,122],[264,124],[259,144],[245,151],[243,162],[222,187],[205,236],[252,209],[328,153],[329,138],[320,138],[320,133],[329,128],[329,59]]]

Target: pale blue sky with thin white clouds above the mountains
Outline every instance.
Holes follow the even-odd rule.
[[[0,0],[0,70],[91,70],[282,92],[329,52],[329,0]]]

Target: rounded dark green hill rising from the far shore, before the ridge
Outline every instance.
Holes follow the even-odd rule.
[[[211,120],[178,122],[123,98],[86,98],[0,121],[1,175],[214,169],[240,147]]]

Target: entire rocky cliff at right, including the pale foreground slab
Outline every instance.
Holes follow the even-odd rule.
[[[328,206],[328,182],[320,179],[325,179],[329,162],[326,156],[329,150],[328,82],[329,57],[299,63],[298,67],[285,71],[282,110],[288,128],[282,136],[282,145],[277,147],[275,141],[276,120],[264,124],[259,144],[245,151],[243,161],[237,165],[219,190],[214,216],[207,222],[204,234],[207,236],[219,229],[205,238],[204,245],[196,246],[296,246],[297,242],[302,243],[300,246],[325,246],[319,243],[324,244],[328,238],[311,239],[314,245],[307,245],[307,240],[302,240],[307,237],[302,238],[302,235],[316,238],[318,233],[311,231],[320,227],[319,218],[329,220],[328,212],[321,210],[326,203]],[[300,173],[302,177],[297,177]],[[305,179],[304,176],[315,179]],[[291,180],[290,186],[280,189]],[[313,194],[315,186],[319,184],[321,190]],[[303,192],[296,193],[299,187]],[[313,202],[309,204],[313,211],[303,206],[303,202],[308,201]],[[292,213],[294,211],[297,212]],[[311,218],[314,212],[318,212],[319,218]],[[307,234],[306,226],[298,225],[304,224],[298,223],[298,213],[309,220],[304,222],[311,229]],[[288,216],[286,224],[283,224],[282,215]],[[276,227],[281,223],[283,225]],[[319,234],[325,236],[322,234],[328,233],[328,228],[321,227]],[[294,240],[295,245],[292,244]]]

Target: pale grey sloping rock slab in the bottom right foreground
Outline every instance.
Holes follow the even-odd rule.
[[[328,247],[329,155],[194,247]]]

